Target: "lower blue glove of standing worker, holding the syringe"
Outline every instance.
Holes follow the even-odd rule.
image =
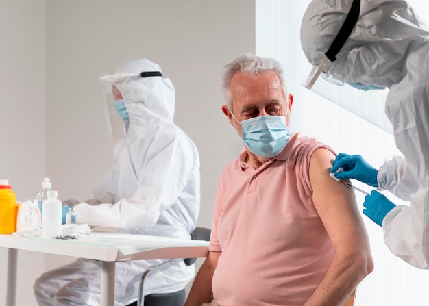
[[[372,190],[371,194],[365,196],[363,207],[365,207],[365,209],[363,209],[363,214],[381,227],[384,217],[395,208],[396,205],[377,190]]]

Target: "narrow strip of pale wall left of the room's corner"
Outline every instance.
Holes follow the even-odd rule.
[[[25,201],[45,175],[45,1],[0,0],[0,41],[0,177]],[[0,305],[5,305],[7,256],[0,248]],[[19,252],[18,266],[19,288],[31,298],[44,256]],[[17,305],[32,305],[24,300],[20,294]]]

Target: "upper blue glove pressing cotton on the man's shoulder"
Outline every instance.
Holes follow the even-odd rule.
[[[343,171],[335,173],[339,168],[343,168]],[[357,179],[367,185],[378,187],[378,170],[368,164],[360,155],[339,153],[330,172],[335,173],[337,179]]]

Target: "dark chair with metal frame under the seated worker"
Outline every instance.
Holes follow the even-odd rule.
[[[196,227],[194,231],[191,233],[191,239],[209,241],[210,233],[211,233],[211,230],[207,229],[206,227]],[[151,272],[151,270],[158,268],[159,266],[162,266],[169,262],[173,262],[173,260],[177,260],[177,259],[169,259],[166,262],[162,262],[160,264],[151,266],[150,268],[147,268],[145,272],[143,272],[142,278],[140,279],[140,287],[138,290],[138,301],[131,303],[128,306],[183,306],[184,305],[185,297],[186,297],[186,293],[184,289],[179,290],[177,292],[171,292],[171,293],[149,294],[143,297],[143,282],[145,281],[145,277],[149,274],[149,272]],[[196,260],[197,258],[186,258],[184,259],[184,262],[186,266],[191,266],[191,264],[195,263]]]

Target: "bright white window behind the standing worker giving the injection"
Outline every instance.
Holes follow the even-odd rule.
[[[429,2],[408,2],[427,23]],[[395,146],[389,120],[384,115],[387,90],[374,92],[378,97],[365,98],[365,92],[350,86],[340,88],[328,84],[326,86],[329,87],[320,89],[320,94],[301,86],[308,62],[301,49],[299,28],[308,3],[309,0],[256,0],[256,54],[280,60],[288,71],[291,92],[295,97],[291,115],[293,131],[318,138],[338,153],[361,154],[377,168],[385,157],[401,155]],[[360,99],[356,102],[358,97]],[[372,189],[357,181],[353,183],[367,191]],[[389,192],[383,194],[397,205],[409,205]],[[356,199],[362,212],[363,195],[356,193]],[[382,229],[367,216],[362,216],[375,268],[360,283],[355,306],[429,305],[426,288],[429,272],[395,257],[384,244]]]

